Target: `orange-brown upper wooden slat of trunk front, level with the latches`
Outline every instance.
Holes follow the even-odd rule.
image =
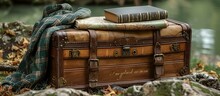
[[[161,46],[162,53],[171,53],[172,50],[170,49],[171,44],[166,44]],[[153,54],[152,46],[143,46],[143,47],[131,47],[130,49],[130,56],[132,55],[132,50],[137,50],[137,55],[135,56],[146,56]],[[180,43],[179,51],[185,51],[186,43]],[[89,50],[88,49],[77,49],[80,52],[79,58],[88,58],[89,57]],[[63,50],[63,57],[64,58],[71,58],[70,57],[70,49]],[[97,56],[98,58],[101,57],[115,57],[114,51],[118,51],[118,57],[122,57],[122,48],[108,48],[108,49],[97,49]]]

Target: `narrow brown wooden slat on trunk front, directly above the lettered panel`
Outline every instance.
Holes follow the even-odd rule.
[[[183,60],[184,52],[165,54],[165,61]],[[142,56],[142,57],[129,57],[129,58],[100,58],[99,66],[115,66],[115,65],[129,65],[129,64],[141,64],[153,62],[153,56]],[[64,60],[64,69],[72,68],[86,68],[88,59],[67,59]]]

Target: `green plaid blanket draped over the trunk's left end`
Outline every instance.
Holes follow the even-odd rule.
[[[7,76],[2,85],[11,85],[15,92],[22,88],[44,88],[42,84],[46,83],[52,33],[70,28],[76,19],[89,17],[90,14],[87,8],[79,8],[74,12],[72,6],[66,3],[46,6],[42,19],[34,25],[30,45],[18,70]]]

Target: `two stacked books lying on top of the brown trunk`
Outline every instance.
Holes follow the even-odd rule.
[[[155,30],[168,26],[168,12],[153,6],[104,9],[104,16],[78,19],[76,29]]]

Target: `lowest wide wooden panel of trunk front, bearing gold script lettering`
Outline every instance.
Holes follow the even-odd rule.
[[[165,75],[163,77],[177,76],[179,70],[183,67],[183,60],[165,62]],[[64,78],[67,81],[66,86],[86,85],[87,69],[74,68],[65,69]],[[153,65],[150,63],[115,65],[99,68],[99,83],[126,82],[133,80],[152,79]],[[132,77],[132,78],[131,78]]]

